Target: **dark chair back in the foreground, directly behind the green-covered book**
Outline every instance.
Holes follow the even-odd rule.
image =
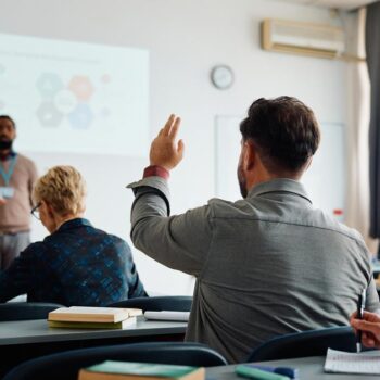
[[[3,380],[76,380],[78,370],[104,360],[212,367],[226,365],[216,351],[198,343],[136,343],[66,351],[41,356],[13,368]]]

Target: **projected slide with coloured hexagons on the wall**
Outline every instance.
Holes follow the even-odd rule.
[[[0,34],[3,113],[21,151],[145,155],[148,51]]]

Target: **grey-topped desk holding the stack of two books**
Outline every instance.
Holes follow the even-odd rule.
[[[186,322],[145,320],[142,316],[137,318],[136,326],[123,330],[53,329],[45,319],[0,322],[0,378],[22,362],[54,352],[122,343],[182,341],[186,328]]]

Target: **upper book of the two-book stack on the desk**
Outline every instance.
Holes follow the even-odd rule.
[[[48,320],[116,324],[138,315],[142,315],[140,308],[71,306],[50,312]]]

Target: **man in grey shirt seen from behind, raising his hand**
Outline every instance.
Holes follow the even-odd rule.
[[[290,97],[253,102],[240,124],[242,199],[169,216],[169,172],[183,153],[179,125],[172,115],[143,179],[129,187],[136,248],[197,277],[188,341],[239,363],[276,335],[349,325],[363,289],[366,309],[379,308],[363,239],[314,208],[300,182],[320,139],[311,109]]]

